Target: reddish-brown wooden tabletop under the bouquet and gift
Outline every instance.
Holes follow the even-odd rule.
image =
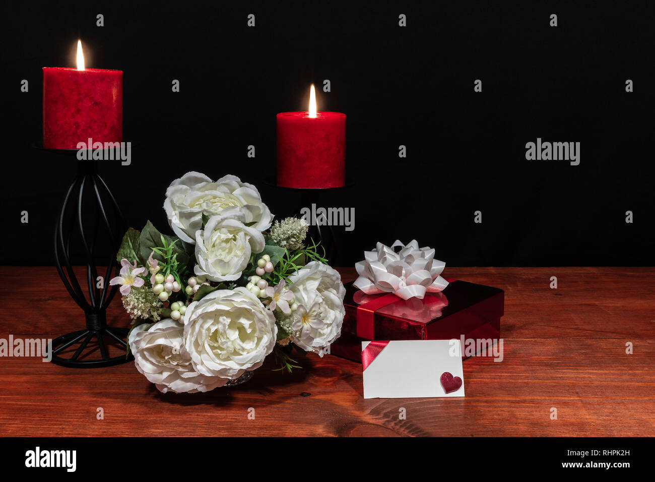
[[[183,395],[157,392],[133,363],[67,369],[11,357],[0,358],[0,435],[653,436],[654,271],[447,268],[506,291],[504,360],[464,361],[464,399],[365,400],[361,365],[332,355],[299,357],[304,369],[293,374],[269,363],[243,386]],[[0,268],[0,293],[0,338],[83,328],[52,267]],[[128,325],[120,303],[110,325]]]

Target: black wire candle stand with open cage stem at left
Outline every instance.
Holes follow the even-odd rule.
[[[56,152],[77,154],[76,150]],[[94,215],[90,216],[89,211]],[[121,242],[121,228],[121,209],[98,173],[98,161],[78,160],[77,175],[66,192],[56,224],[54,258],[64,287],[84,311],[86,328],[52,340],[48,347],[52,353],[52,363],[64,367],[96,368],[118,365],[132,359],[126,353],[111,357],[107,344],[107,341],[115,342],[125,350],[127,348],[128,329],[108,327],[106,317],[107,306],[119,288],[117,285],[109,286],[109,280],[119,271],[115,256]],[[107,260],[103,278],[98,276],[99,270],[94,262],[100,256],[100,253],[96,253],[99,236],[105,236],[110,245],[102,254],[102,259]],[[71,265],[71,241],[78,241],[81,247],[79,254],[86,259],[88,296],[84,294]],[[75,351],[66,357],[64,351],[67,349]],[[97,351],[100,351],[100,357],[89,356],[97,355]]]

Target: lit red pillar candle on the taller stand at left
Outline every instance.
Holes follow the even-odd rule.
[[[122,70],[43,68],[43,147],[122,141]]]

